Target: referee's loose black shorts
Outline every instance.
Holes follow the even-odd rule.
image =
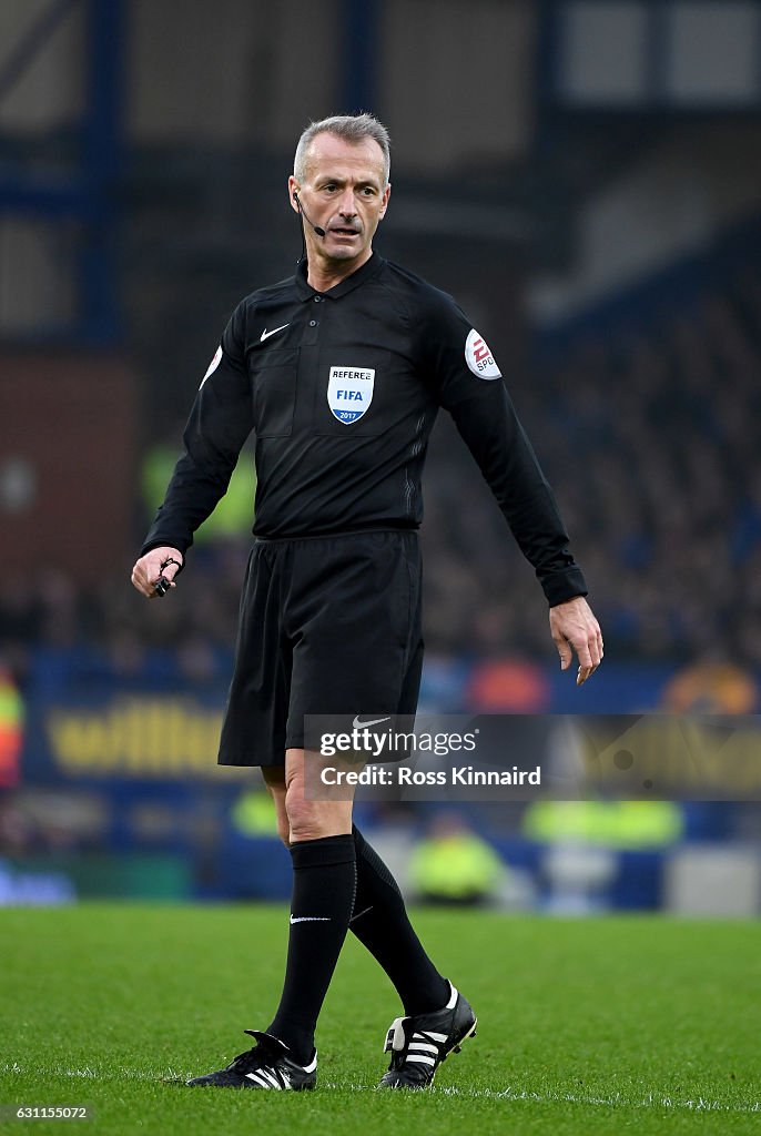
[[[413,715],[420,592],[416,532],[257,541],[219,765],[282,766],[304,715]]]

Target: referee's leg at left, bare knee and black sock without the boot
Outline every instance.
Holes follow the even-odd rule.
[[[345,800],[343,787],[343,800],[307,800],[307,761],[326,763],[319,754],[287,750],[284,779],[265,771],[278,832],[293,860],[285,982],[267,1033],[303,1064],[311,1060],[317,1018],[346,937],[357,887],[352,801]]]

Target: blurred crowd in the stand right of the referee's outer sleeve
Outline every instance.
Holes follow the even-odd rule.
[[[761,665],[761,285],[549,376],[549,471],[607,641]],[[534,412],[538,407],[533,408]]]

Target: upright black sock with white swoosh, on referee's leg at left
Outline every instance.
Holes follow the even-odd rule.
[[[354,902],[354,837],[324,836],[291,845],[293,897],[285,983],[268,1034],[308,1064],[315,1026],[346,937]],[[446,999],[444,999],[446,1001]]]

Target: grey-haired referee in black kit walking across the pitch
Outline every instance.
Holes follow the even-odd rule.
[[[444,293],[373,251],[391,194],[388,134],[370,115],[313,123],[288,178],[306,241],[293,277],[235,309],[201,384],[166,500],[133,569],[149,599],[175,586],[192,534],[257,436],[257,537],[244,582],[219,761],[261,766],[293,860],[283,995],[256,1045],[189,1081],[316,1084],[317,1017],[346,930],[404,1006],[380,1085],[423,1088],[475,1034],[473,1009],[415,934],[396,884],[352,828],[352,802],[309,800],[304,715],[410,715],[423,638],[420,474],[444,407],[550,603],[567,669],[585,682],[600,627],[538,468],[482,336]],[[345,793],[344,793],[345,795]]]

